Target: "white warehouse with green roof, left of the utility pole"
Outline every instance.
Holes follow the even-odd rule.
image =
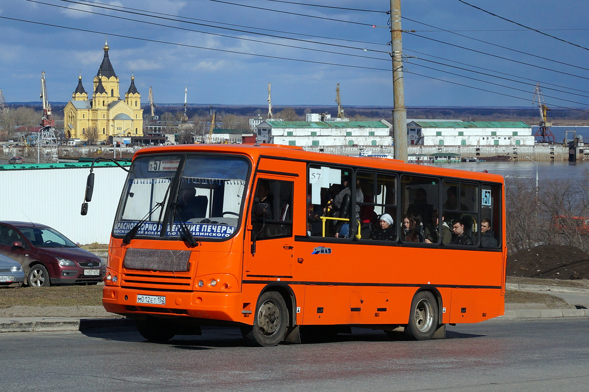
[[[391,123],[380,121],[273,121],[257,126],[257,140],[289,146],[391,146]]]

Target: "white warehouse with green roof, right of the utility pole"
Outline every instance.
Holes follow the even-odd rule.
[[[532,127],[523,121],[421,121],[407,124],[409,145],[533,146]]]

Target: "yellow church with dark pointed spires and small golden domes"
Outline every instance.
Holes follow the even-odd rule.
[[[121,99],[118,76],[108,58],[108,44],[104,44],[104,58],[94,76],[92,96],[82,85],[82,75],[72,99],[64,108],[64,131],[68,139],[90,142],[112,142],[110,137],[143,136],[141,94],[131,85]]]

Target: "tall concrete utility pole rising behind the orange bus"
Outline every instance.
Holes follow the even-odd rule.
[[[401,0],[391,0],[391,56],[393,58],[393,153],[407,162],[407,111],[403,91]]]

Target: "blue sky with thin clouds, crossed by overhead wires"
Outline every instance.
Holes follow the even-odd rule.
[[[589,107],[589,1],[401,6],[406,106],[531,108],[540,83],[549,107]],[[7,102],[38,101],[45,71],[51,102],[70,100],[80,73],[90,92],[108,39],[121,93],[133,72],[143,104],[150,86],[156,104],[182,103],[186,85],[188,103],[267,105],[271,82],[276,106],[336,105],[337,83],[344,107],[392,106],[389,9],[386,0],[0,0],[0,89]]]

